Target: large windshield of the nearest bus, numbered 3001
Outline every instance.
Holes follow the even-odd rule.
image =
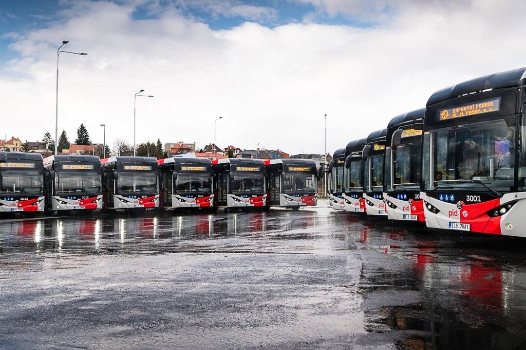
[[[460,185],[468,189],[485,185],[510,191],[514,183],[514,145],[515,126],[508,126],[502,119],[427,132],[424,184],[428,188]]]

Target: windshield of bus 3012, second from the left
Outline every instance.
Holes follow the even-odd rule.
[[[100,193],[100,174],[94,171],[83,172],[56,172],[55,192],[71,193],[83,192],[90,194]]]

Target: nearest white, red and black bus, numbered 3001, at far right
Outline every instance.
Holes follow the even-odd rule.
[[[526,68],[427,102],[422,190],[429,228],[526,237]]]

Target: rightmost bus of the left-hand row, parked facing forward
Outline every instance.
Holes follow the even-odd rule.
[[[269,205],[299,209],[318,203],[316,162],[310,159],[265,161]]]

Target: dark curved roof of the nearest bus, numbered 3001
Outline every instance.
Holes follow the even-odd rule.
[[[450,100],[470,92],[482,90],[502,89],[521,86],[526,83],[526,67],[493,73],[476,79],[461,82],[445,89],[438,90],[429,97],[426,107]]]

